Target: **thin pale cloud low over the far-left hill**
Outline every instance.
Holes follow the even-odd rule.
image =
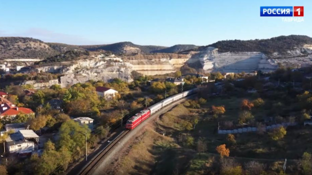
[[[59,42],[59,43],[76,44],[76,45],[107,43],[107,42],[89,40],[78,35],[58,33],[58,32],[54,32],[51,30],[43,29],[43,28],[30,28],[23,32],[17,32],[17,33],[8,33],[3,30],[0,30],[0,36],[32,37],[32,38],[40,39],[44,42]]]

